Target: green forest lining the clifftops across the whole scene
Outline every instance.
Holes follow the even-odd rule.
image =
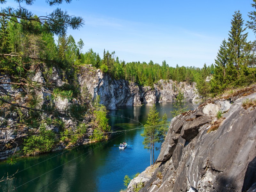
[[[251,13],[253,17],[253,13]],[[37,19],[37,16],[34,16]],[[26,21],[24,21],[26,22]],[[99,53],[89,49],[83,53],[84,42],[80,39],[77,43],[73,36],[65,32],[59,33],[57,44],[54,34],[51,32],[40,32],[42,26],[33,22],[33,28],[39,31],[35,33],[24,33],[22,22],[17,18],[0,20],[0,39],[2,54],[16,54],[20,57],[8,60],[1,59],[1,73],[15,73],[22,76],[25,73],[24,64],[27,56],[29,58],[40,58],[42,61],[56,61],[62,69],[63,80],[69,84],[77,84],[78,66],[90,64],[108,73],[114,79],[125,79],[140,85],[153,84],[160,79],[172,79],[173,81],[189,83],[196,82],[199,93],[203,97],[216,95],[227,88],[236,88],[255,82],[255,45],[256,42],[246,42],[247,33],[244,33],[242,15],[239,11],[233,15],[231,29],[228,39],[224,39],[217,53],[215,64],[204,65],[203,68],[178,66],[171,67],[164,60],[161,65],[150,60],[146,62],[125,62],[119,60],[115,51],[109,52],[104,49],[102,58]],[[248,27],[253,28],[248,22]],[[22,55],[22,56],[21,56]],[[12,61],[12,62],[10,62]]]

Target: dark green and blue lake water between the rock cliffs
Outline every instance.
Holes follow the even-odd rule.
[[[0,163],[0,178],[15,174],[12,180],[0,182],[0,191],[38,191],[38,192],[119,192],[125,189],[124,176],[131,179],[150,165],[150,152],[144,149],[141,124],[148,118],[149,108],[130,106],[109,111],[109,124],[113,131],[109,140],[77,146],[49,154],[20,158],[16,164]],[[188,109],[198,104],[186,103]],[[173,104],[156,104],[159,117],[164,113],[171,120]],[[136,130],[131,130],[135,129]],[[130,131],[129,131],[130,130]],[[119,149],[120,142],[126,142],[125,149]],[[158,147],[160,144],[158,145]],[[155,160],[159,151],[155,151]]]

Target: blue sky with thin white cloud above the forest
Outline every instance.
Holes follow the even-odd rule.
[[[76,1],[59,7],[70,15],[81,16],[84,25],[68,30],[68,35],[84,41],[83,52],[90,48],[103,56],[103,50],[116,52],[119,60],[152,60],[169,66],[211,65],[224,38],[228,38],[231,19],[240,10],[244,23],[253,11],[252,0],[183,1]],[[7,1],[1,7],[17,4]],[[24,5],[37,16],[50,13],[44,0]],[[255,40],[249,32],[247,41]]]

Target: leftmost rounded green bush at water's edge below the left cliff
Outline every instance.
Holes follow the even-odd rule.
[[[45,125],[41,124],[38,135],[24,139],[23,152],[25,155],[46,153],[52,150],[54,143],[55,134],[51,130],[46,130]]]

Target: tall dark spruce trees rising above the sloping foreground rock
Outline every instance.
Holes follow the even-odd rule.
[[[256,81],[256,41],[246,42],[248,33],[244,33],[243,25],[242,14],[235,12],[229,37],[222,41],[215,59],[211,93],[221,93],[227,88],[247,86]],[[247,25],[250,26],[249,22]]]

